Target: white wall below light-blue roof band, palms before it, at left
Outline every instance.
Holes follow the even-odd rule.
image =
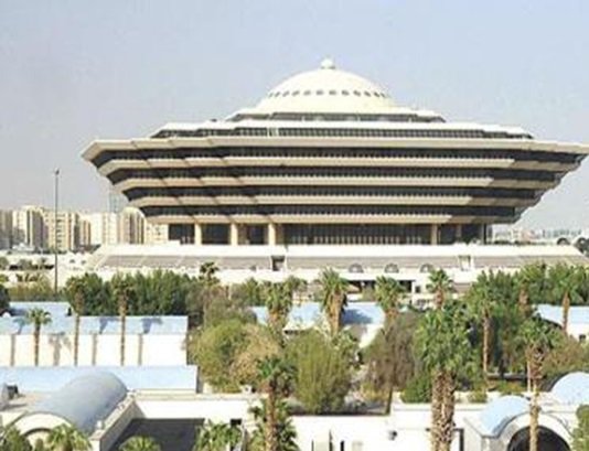
[[[185,336],[129,334],[126,337],[125,364],[129,366],[185,365]],[[1,366],[33,366],[33,335],[0,335]],[[68,366],[74,363],[74,336],[42,334],[39,348],[40,366]],[[81,335],[78,365],[116,366],[120,363],[120,336]]]

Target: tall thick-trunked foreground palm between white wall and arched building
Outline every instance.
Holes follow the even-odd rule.
[[[427,312],[417,329],[415,350],[431,376],[431,450],[449,451],[457,380],[465,374],[472,354],[463,305],[452,302]]]

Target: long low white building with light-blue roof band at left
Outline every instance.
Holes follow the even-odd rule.
[[[74,364],[75,318],[67,303],[13,303],[15,316],[0,318],[0,365],[34,365],[34,331],[25,309],[42,308],[51,313],[51,323],[41,327],[40,366]],[[120,364],[121,321],[118,316],[82,316],[78,364],[116,366]],[[186,364],[186,316],[127,316],[125,364],[170,366]]]

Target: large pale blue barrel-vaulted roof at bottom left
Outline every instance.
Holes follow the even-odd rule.
[[[92,433],[127,395],[127,387],[108,372],[90,372],[77,377],[43,399],[29,415],[60,417],[82,432]]]

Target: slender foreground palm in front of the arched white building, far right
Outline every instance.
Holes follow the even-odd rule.
[[[529,451],[538,451],[539,382],[546,355],[556,346],[558,336],[554,329],[538,316],[532,316],[522,325],[521,339],[532,379],[529,402]]]

